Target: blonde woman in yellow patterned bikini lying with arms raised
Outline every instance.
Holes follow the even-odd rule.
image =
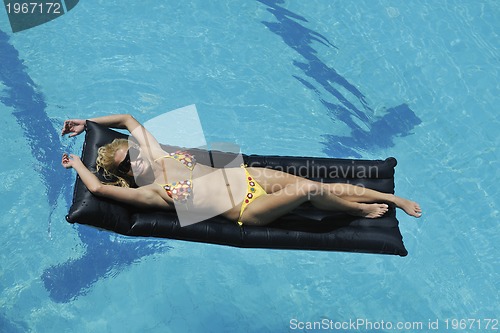
[[[166,152],[131,115],[90,119],[98,124],[127,129],[135,140],[115,140],[99,149],[98,168],[116,176],[113,185],[103,184],[76,155],[64,154],[62,165],[73,168],[94,195],[137,207],[176,209],[201,221],[222,215],[240,225],[266,225],[310,201],[323,210],[377,218],[387,203],[420,217],[419,205],[392,194],[349,184],[324,184],[267,168],[215,169],[196,163],[187,152]],[[62,135],[76,136],[85,120],[64,122]],[[149,179],[149,181],[148,181]],[[131,187],[132,183],[139,187]],[[374,203],[375,202],[375,203]],[[194,215],[193,215],[194,214]]]

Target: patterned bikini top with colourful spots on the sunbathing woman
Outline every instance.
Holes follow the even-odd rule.
[[[162,158],[172,158],[182,163],[186,168],[189,169],[190,177],[188,180],[173,182],[171,184],[158,184],[163,187],[163,189],[165,189],[167,195],[174,201],[179,203],[186,203],[191,197],[191,193],[193,192],[193,169],[196,166],[196,159],[194,158],[194,155],[191,155],[186,151],[179,150],[159,157],[155,160],[155,162]]]

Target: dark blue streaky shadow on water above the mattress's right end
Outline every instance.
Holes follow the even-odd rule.
[[[313,48],[314,42],[337,49],[335,45],[325,36],[306,28],[306,18],[283,8],[284,0],[257,1],[266,5],[277,21],[262,23],[303,58],[293,61],[303,77],[293,77],[318,96],[334,120],[342,121],[351,129],[350,136],[324,135],[326,154],[359,158],[362,156],[358,151],[394,146],[393,138],[411,134],[412,129],[421,123],[407,104],[387,108],[383,117],[375,117],[363,93],[325,64]],[[319,87],[326,93],[321,92]]]

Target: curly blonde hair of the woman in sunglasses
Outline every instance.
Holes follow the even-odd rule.
[[[119,149],[128,149],[127,139],[114,139],[113,142],[99,147],[97,151],[97,171],[102,170],[104,178],[110,179],[106,184],[115,185],[120,187],[130,187],[129,182],[117,174],[116,168],[118,167],[115,162],[115,154]],[[116,179],[111,181],[111,179]]]

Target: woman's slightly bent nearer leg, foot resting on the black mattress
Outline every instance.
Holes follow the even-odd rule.
[[[380,217],[387,212],[386,204],[366,204],[344,200],[322,190],[322,184],[306,179],[289,184],[281,190],[255,199],[243,212],[243,223],[265,225],[289,213],[306,201],[330,211],[345,212],[368,218]]]

